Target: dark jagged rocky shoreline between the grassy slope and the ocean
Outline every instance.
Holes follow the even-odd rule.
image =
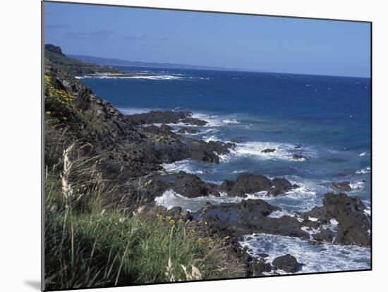
[[[247,195],[287,195],[287,192],[299,188],[298,185],[285,178],[270,179],[261,174],[239,174],[234,181],[224,180],[221,185],[216,185],[183,171],[166,173],[162,164],[183,159],[219,164],[219,156],[230,154],[236,142],[205,142],[181,135],[196,133],[195,128],[185,127],[175,132],[169,124],[207,125],[207,121],[193,118],[190,111],[123,115],[79,80],[63,73],[50,61],[46,62],[46,74],[54,80],[56,88],[72,95],[76,107],[82,112],[63,120],[63,128],[70,128],[79,140],[92,145],[93,154],[102,157],[101,167],[106,169],[111,179],[126,182],[126,190],[131,190],[129,193],[133,195],[128,195],[125,200],[131,203],[137,200],[135,194],[141,193],[142,202],[149,212],[171,216],[175,221],[186,221],[188,228],[204,236],[224,238],[231,250],[243,259],[249,275],[262,275],[278,269],[287,273],[298,272],[300,263],[293,255],[277,257],[272,263],[266,262],[265,255],[252,257],[239,243],[242,236],[248,234],[303,238],[312,245],[326,242],[370,248],[370,216],[360,200],[346,193],[327,193],[321,207],[293,216],[271,217],[273,212],[281,209],[265,200],[245,200]],[[51,116],[55,115],[56,112],[52,111]],[[270,154],[276,149],[263,149],[262,152]],[[307,158],[295,154],[293,159]],[[349,190],[346,182],[333,183],[332,188],[339,192]],[[191,213],[179,206],[166,209],[155,205],[154,199],[166,190],[174,190],[188,198],[228,196],[241,197],[242,201],[220,205],[207,203],[198,212]]]

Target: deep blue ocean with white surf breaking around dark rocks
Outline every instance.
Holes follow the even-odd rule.
[[[92,90],[123,114],[154,109],[192,111],[208,121],[187,134],[205,141],[238,140],[219,164],[191,160],[165,164],[169,172],[186,171],[221,183],[238,174],[284,177],[301,186],[279,197],[262,198],[283,210],[273,216],[305,212],[322,205],[332,182],[348,181],[348,195],[370,208],[370,79],[245,71],[210,71],[121,67],[135,75],[90,78]],[[176,130],[185,125],[171,125]],[[193,128],[193,126],[190,126]],[[265,149],[276,149],[263,153]],[[303,159],[295,160],[297,154]],[[188,199],[166,192],[157,203],[195,211],[205,202],[238,202],[234,197]],[[368,212],[370,209],[368,209]],[[301,272],[368,269],[370,250],[330,243],[310,245],[299,238],[264,235],[241,243],[252,253],[295,255]],[[334,264],[335,263],[335,264]]]

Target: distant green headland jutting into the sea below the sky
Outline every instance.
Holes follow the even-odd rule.
[[[118,68],[99,66],[95,63],[81,62],[73,58],[65,56],[60,47],[54,44],[44,45],[44,56],[49,59],[54,65],[66,70],[71,75],[85,75],[95,73],[123,73]]]

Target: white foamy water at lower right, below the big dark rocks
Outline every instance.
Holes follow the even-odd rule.
[[[356,245],[334,245],[323,243],[311,245],[301,238],[253,234],[244,236],[240,244],[248,248],[248,253],[258,257],[258,253],[267,253],[267,262],[287,253],[296,257],[301,264],[297,273],[346,271],[370,268],[370,249]],[[277,270],[277,273],[286,274]]]

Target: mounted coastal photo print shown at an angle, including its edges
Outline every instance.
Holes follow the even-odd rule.
[[[45,291],[371,269],[372,23],[42,9]]]

